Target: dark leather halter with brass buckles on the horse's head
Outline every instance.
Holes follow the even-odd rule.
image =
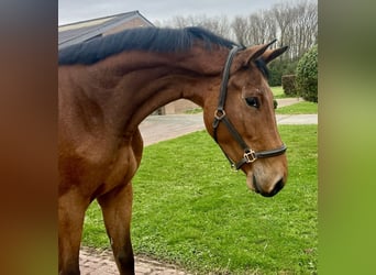
[[[287,150],[286,145],[283,144],[278,148],[255,152],[254,150],[252,150],[245,143],[245,141],[242,139],[242,136],[239,134],[239,132],[236,131],[234,125],[231,123],[231,121],[226,117],[226,113],[224,111],[224,105],[225,105],[225,98],[226,98],[226,94],[228,94],[228,82],[229,82],[229,78],[230,78],[230,67],[231,67],[231,63],[232,63],[233,57],[235,56],[235,54],[240,50],[241,50],[240,47],[234,46],[230,51],[230,53],[229,53],[229,56],[228,56],[228,59],[226,59],[226,63],[225,63],[225,66],[224,66],[224,70],[223,70],[223,78],[222,78],[222,82],[221,82],[221,89],[220,89],[220,95],[219,95],[219,102],[218,102],[217,110],[214,112],[214,121],[213,121],[213,129],[214,129],[213,139],[214,139],[214,141],[218,143],[218,145],[220,147],[221,147],[221,145],[218,142],[217,130],[218,130],[218,127],[219,127],[220,122],[222,121],[224,123],[224,125],[228,128],[228,130],[231,133],[231,135],[235,139],[235,141],[239,143],[239,145],[244,151],[243,158],[241,161],[239,161],[237,163],[235,163],[235,162],[233,162],[229,157],[229,155],[221,147],[222,152],[224,153],[224,155],[229,160],[229,162],[231,164],[231,167],[233,167],[236,170],[240,169],[246,163],[253,163],[257,158],[265,158],[265,157],[272,157],[272,156],[281,155]]]

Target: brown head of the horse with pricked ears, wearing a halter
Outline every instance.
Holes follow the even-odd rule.
[[[276,195],[287,180],[286,146],[266,67],[287,47],[267,50],[274,42],[230,51],[221,86],[215,88],[219,95],[203,106],[209,133],[232,166],[245,173],[247,186],[265,197]]]

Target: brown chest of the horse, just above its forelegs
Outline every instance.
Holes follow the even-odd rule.
[[[108,144],[96,140],[81,143],[60,160],[62,188],[78,187],[84,196],[103,195],[131,180],[137,168],[130,144]],[[100,187],[100,188],[99,188]],[[99,191],[99,189],[100,191]]]

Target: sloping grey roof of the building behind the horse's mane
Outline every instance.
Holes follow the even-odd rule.
[[[146,18],[144,18],[139,11],[131,11],[110,16],[59,25],[58,50],[73,44],[91,40],[96,36],[101,36],[103,35],[103,33],[109,32],[123,24],[126,24],[128,22],[131,22],[134,19],[141,20],[143,22],[143,25],[154,26],[154,24],[150,22]]]

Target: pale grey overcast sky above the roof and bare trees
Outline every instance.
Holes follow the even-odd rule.
[[[295,2],[295,0],[288,0]],[[269,9],[283,0],[59,0],[58,24],[102,18],[139,10],[151,22],[163,22],[176,15],[225,14],[248,15],[261,9]]]

